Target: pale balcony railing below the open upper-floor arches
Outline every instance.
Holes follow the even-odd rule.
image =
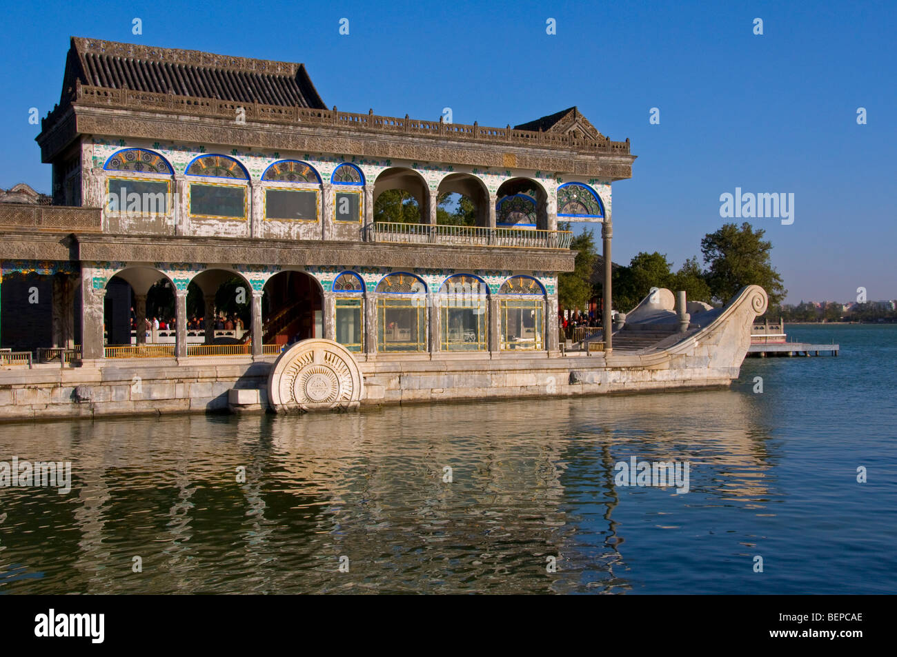
[[[387,221],[370,224],[369,230],[371,239],[375,242],[403,244],[568,249],[573,238],[573,233],[569,230],[492,229],[479,226],[433,226],[424,223]]]

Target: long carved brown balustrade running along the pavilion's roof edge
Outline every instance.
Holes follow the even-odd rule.
[[[379,117],[371,109],[367,114],[339,112],[336,108],[300,108],[278,105],[261,105],[259,103],[242,103],[233,100],[194,98],[178,96],[173,93],[157,93],[152,91],[135,91],[131,89],[108,89],[77,83],[73,92],[73,101],[78,105],[91,107],[117,107],[140,111],[167,111],[174,114],[223,118],[233,121],[238,110],[245,113],[246,121],[258,121],[282,125],[319,125],[335,128],[349,128],[374,133],[427,135],[444,137],[478,143],[506,143],[518,146],[557,147],[571,151],[589,153],[606,153],[611,155],[628,155],[629,140],[612,142],[605,137],[604,141],[594,142],[588,139],[576,139],[569,134],[544,133],[534,130],[514,130],[510,125],[497,128],[474,125],[426,121],[418,118]],[[53,123],[57,114],[65,107],[55,108],[45,122]],[[44,129],[48,125],[43,126]]]

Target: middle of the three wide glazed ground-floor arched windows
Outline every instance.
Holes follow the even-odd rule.
[[[470,274],[449,276],[440,288],[440,342],[445,351],[486,349],[486,284]]]

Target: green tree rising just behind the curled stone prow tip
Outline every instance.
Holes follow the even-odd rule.
[[[772,267],[772,243],[762,238],[764,233],[745,221],[740,229],[727,223],[701,239],[701,253],[708,265],[707,283],[715,301],[725,303],[745,285],[761,286],[772,305],[785,298],[788,290]]]

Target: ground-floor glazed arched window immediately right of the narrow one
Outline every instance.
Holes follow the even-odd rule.
[[[377,284],[378,349],[427,350],[427,287],[410,273],[385,276]]]

